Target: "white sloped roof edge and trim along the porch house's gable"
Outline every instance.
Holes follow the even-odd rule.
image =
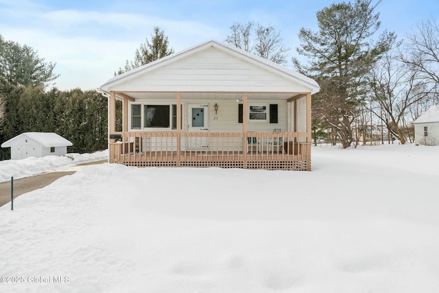
[[[163,67],[166,67],[167,65],[174,64],[179,60],[182,60],[183,58],[198,54],[202,51],[207,51],[212,47],[219,51],[222,51],[224,54],[228,54],[229,56],[238,58],[239,60],[242,60],[242,62],[246,62],[259,68],[263,68],[273,74],[280,75],[285,78],[285,80],[289,80],[289,82],[300,84],[309,89],[311,93],[317,93],[318,91],[320,91],[320,86],[315,80],[308,78],[301,73],[293,71],[292,69],[288,69],[287,67],[283,67],[282,65],[278,65],[275,62],[272,62],[265,58],[261,58],[247,51],[238,49],[230,45],[226,45],[224,43],[219,43],[216,40],[209,40],[204,43],[200,43],[199,45],[189,47],[188,49],[185,49],[183,51],[165,56],[154,62],[150,62],[141,67],[137,67],[136,69],[132,69],[131,71],[127,71],[125,73],[117,75],[114,78],[110,78],[110,80],[105,82],[100,87],[100,90],[104,91],[105,93],[109,93],[117,86],[121,86],[123,84],[126,84],[127,82],[130,82],[131,80],[135,80],[136,78],[139,78],[139,76],[147,72],[161,69]]]

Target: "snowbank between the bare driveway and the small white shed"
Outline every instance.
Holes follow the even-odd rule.
[[[108,150],[92,154],[66,154],[65,156],[34,156],[23,160],[0,161],[0,182],[24,178],[35,174],[51,172],[62,167],[71,167],[82,163],[108,159]]]

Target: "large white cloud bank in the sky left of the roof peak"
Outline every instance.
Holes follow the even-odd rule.
[[[2,1],[2,0],[0,0]],[[1,2],[0,2],[1,3]],[[5,3],[5,1],[3,1]],[[220,36],[221,30],[195,21],[175,21],[136,13],[50,10],[43,5],[0,8],[5,40],[29,45],[47,62],[56,62],[60,89],[94,89],[134,58],[145,38],[159,26],[176,51]]]

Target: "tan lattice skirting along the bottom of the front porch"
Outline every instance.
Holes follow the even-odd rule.
[[[310,171],[311,160],[300,161],[119,161],[117,163],[135,167],[219,167],[241,169]]]

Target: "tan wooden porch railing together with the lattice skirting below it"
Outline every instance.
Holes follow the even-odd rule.
[[[311,169],[306,132],[118,132],[110,163],[175,167]]]

